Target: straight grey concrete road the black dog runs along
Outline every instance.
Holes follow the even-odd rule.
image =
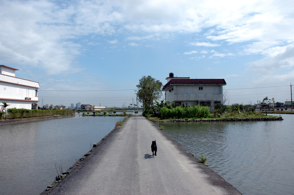
[[[157,156],[151,141],[156,139]],[[240,195],[141,114],[117,128],[49,195]]]

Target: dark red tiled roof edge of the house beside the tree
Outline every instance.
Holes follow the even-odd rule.
[[[226,85],[224,79],[172,79],[163,88],[169,85]]]

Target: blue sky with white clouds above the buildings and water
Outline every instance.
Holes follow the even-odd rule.
[[[293,24],[293,0],[0,0],[0,64],[39,82],[39,106],[127,107],[170,72],[224,79],[226,104],[285,102]]]

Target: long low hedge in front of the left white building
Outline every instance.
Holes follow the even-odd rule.
[[[42,109],[9,108],[7,109],[7,113],[8,113],[7,119],[17,119],[17,118],[32,118],[32,117],[53,116],[53,115],[68,115],[68,114],[73,114],[73,110],[70,110],[70,109],[42,110]]]

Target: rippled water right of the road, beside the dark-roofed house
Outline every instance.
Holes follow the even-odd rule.
[[[294,115],[284,121],[160,123],[243,195],[294,195]]]

